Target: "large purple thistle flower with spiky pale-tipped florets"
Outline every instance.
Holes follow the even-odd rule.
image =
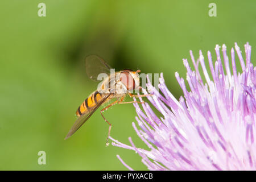
[[[148,150],[135,146],[131,138],[131,146],[111,138],[112,144],[137,152],[150,170],[255,170],[256,67],[250,61],[251,46],[245,44],[244,61],[235,43],[231,49],[233,73],[225,44],[222,46],[224,73],[219,48],[218,45],[215,48],[215,65],[208,51],[212,80],[201,51],[197,61],[190,51],[195,71],[189,67],[187,59],[183,60],[190,89],[175,73],[184,94],[179,101],[167,89],[162,73],[158,85],[161,93],[148,80],[148,92],[153,96],[147,98],[162,117],[158,118],[147,103],[142,104],[143,110],[134,104],[140,129],[133,122]],[[238,74],[235,51],[242,67],[242,73]],[[199,63],[205,84],[199,73]],[[117,157],[133,170],[119,155]]]

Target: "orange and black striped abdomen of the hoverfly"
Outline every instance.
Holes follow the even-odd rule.
[[[90,94],[88,98],[82,104],[79,106],[79,108],[76,111],[77,117],[80,117],[82,114],[84,114],[86,111],[90,110],[92,107],[96,106],[98,102],[101,100],[101,94],[98,93],[98,91],[93,92]]]

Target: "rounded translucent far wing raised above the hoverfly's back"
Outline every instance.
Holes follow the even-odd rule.
[[[110,66],[99,56],[90,55],[85,59],[86,73],[93,81],[97,80],[100,73],[110,74]]]

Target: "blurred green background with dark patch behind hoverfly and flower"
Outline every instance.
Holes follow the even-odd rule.
[[[46,3],[46,17],[38,4]],[[209,3],[217,17],[209,17]],[[0,169],[126,170],[116,155],[144,170],[134,151],[105,147],[108,125],[100,111],[64,140],[75,111],[97,88],[86,76],[84,58],[96,53],[119,70],[163,72],[176,98],[174,73],[185,77],[189,50],[214,52],[216,44],[249,42],[255,63],[256,1],[80,1],[0,2]],[[230,55],[230,54],[229,54]],[[190,62],[191,63],[191,62]],[[208,65],[208,64],[207,64]],[[126,99],[130,101],[130,98]],[[112,137],[147,148],[137,137],[133,105],[105,113]],[[38,152],[46,151],[46,165]]]

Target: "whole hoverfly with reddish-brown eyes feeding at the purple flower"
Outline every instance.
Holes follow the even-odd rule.
[[[151,94],[144,95],[134,95],[132,94],[134,90],[141,89],[139,86],[139,75],[140,70],[133,71],[131,69],[123,69],[119,72],[114,72],[110,74],[110,66],[97,55],[90,55],[85,59],[86,73],[93,81],[98,81],[98,75],[100,73],[105,73],[107,76],[98,85],[97,91],[90,94],[88,98],[79,106],[76,111],[77,120],[73,124],[71,130],[69,130],[65,139],[68,139],[73,135],[90,117],[91,115],[105,102],[112,99],[116,99],[114,102],[108,106],[101,109],[100,113],[102,118],[109,124],[108,137],[106,139],[106,146],[109,145],[109,135],[112,124],[106,120],[102,114],[106,109],[115,104],[130,104],[130,103],[140,103],[138,101],[123,102],[124,98],[129,94],[130,97],[145,97],[151,96]]]

